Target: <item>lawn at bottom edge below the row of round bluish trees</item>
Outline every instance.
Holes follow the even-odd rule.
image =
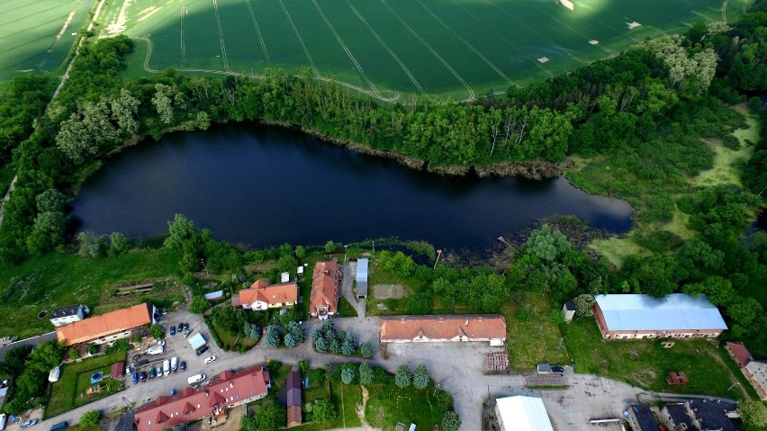
[[[369,385],[365,406],[365,420],[372,427],[393,430],[397,422],[411,423],[418,429],[432,429],[442,423],[442,410],[434,398],[434,386],[417,390],[413,387],[400,389],[396,385]]]

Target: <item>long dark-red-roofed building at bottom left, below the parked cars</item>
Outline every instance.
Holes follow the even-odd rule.
[[[138,431],[160,431],[206,416],[221,418],[226,409],[266,397],[269,371],[258,364],[239,372],[225,371],[199,388],[185,388],[172,397],[160,395],[133,415]]]

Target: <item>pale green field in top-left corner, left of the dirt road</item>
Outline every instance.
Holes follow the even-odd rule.
[[[93,4],[93,0],[0,1],[0,80],[60,67]]]

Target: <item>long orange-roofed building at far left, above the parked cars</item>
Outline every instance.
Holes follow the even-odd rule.
[[[129,337],[133,329],[157,323],[156,314],[155,306],[144,302],[56,328],[56,336],[67,346],[79,343],[112,343]]]

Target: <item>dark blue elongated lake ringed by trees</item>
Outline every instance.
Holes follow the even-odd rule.
[[[555,214],[624,232],[632,209],[564,178],[432,175],[252,124],[130,148],[105,163],[74,202],[79,229],[131,238],[167,232],[176,213],[214,238],[254,247],[396,236],[474,248]]]

